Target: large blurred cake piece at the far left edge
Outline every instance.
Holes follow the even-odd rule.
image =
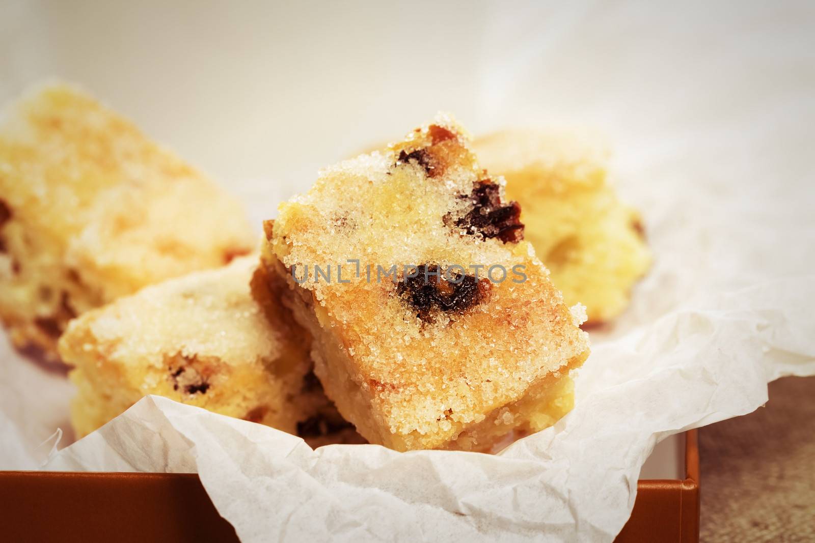
[[[129,120],[46,85],[0,120],[0,317],[55,360],[68,320],[250,252],[236,199]]]

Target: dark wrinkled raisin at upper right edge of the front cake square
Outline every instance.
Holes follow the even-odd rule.
[[[475,183],[469,199],[473,209],[458,219],[456,226],[467,234],[498,238],[504,243],[518,243],[523,239],[521,206],[518,202],[504,204],[496,183],[489,179]]]

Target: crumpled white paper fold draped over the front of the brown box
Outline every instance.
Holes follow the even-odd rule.
[[[311,450],[258,424],[148,396],[53,470],[197,471],[241,541],[611,541],[656,440],[746,414],[815,374],[815,277],[670,313],[597,347],[575,409],[496,456]]]

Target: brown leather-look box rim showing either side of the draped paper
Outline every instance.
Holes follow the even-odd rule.
[[[685,480],[641,480],[615,541],[699,540],[696,430],[685,433]],[[4,541],[238,541],[195,474],[0,471]]]

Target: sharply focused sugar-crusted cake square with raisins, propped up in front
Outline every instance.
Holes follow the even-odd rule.
[[[489,450],[571,409],[588,337],[522,241],[503,184],[438,116],[325,169],[265,225],[263,263],[289,283],[283,301],[314,337],[315,374],[371,443]],[[491,281],[491,266],[507,277],[496,267]]]

